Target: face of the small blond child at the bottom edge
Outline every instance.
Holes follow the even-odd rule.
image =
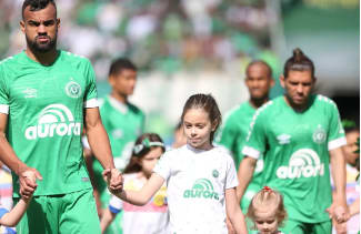
[[[278,232],[278,220],[273,212],[255,212],[254,224],[260,234],[274,234]]]

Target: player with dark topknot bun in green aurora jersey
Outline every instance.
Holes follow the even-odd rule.
[[[331,233],[330,214],[347,218],[345,144],[337,105],[330,99],[311,94],[313,62],[300,49],[284,64],[280,78],[285,94],[265,103],[252,120],[240,165],[240,194],[251,180],[257,160],[263,154],[262,181],[280,191],[289,220],[284,233]],[[335,185],[332,201],[330,170]]]

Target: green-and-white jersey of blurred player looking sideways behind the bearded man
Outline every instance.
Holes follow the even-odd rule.
[[[143,132],[146,116],[136,105],[129,102],[123,104],[112,96],[101,101],[100,115],[109,135],[114,165],[122,171],[129,163],[136,139]],[[101,201],[108,205],[110,194],[106,190],[99,161],[94,161],[93,171]]]

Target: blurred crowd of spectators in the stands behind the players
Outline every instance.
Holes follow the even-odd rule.
[[[0,54],[24,49],[22,0],[0,1]],[[232,70],[251,59],[277,67],[270,50],[275,13],[265,1],[58,0],[59,48],[91,59],[104,80],[111,59],[132,59],[141,71]],[[239,69],[237,69],[239,70]]]

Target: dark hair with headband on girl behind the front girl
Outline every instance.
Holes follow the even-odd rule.
[[[161,143],[161,144],[152,145],[152,142]],[[157,133],[143,133],[142,135],[140,135],[136,140],[132,155],[130,157],[128,165],[124,169],[124,173],[140,172],[142,170],[142,167],[139,164],[139,160],[141,160],[143,156],[146,156],[154,147],[161,147],[163,153],[166,152],[163,141]],[[138,149],[138,150],[136,150],[136,149]]]

